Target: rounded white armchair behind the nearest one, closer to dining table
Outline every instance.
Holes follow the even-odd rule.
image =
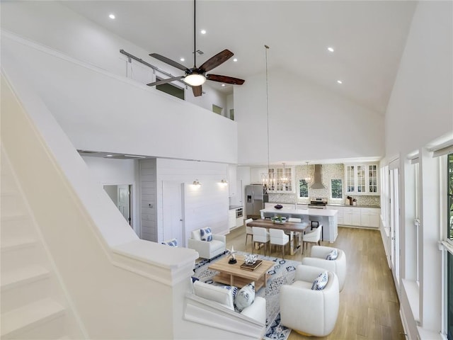
[[[338,257],[335,260],[326,260],[327,255],[336,249],[338,251]],[[338,276],[338,285],[340,291],[343,290],[346,280],[346,254],[343,250],[333,248],[331,246],[312,246],[311,257],[304,257],[302,264],[306,266],[314,266],[324,268],[328,271],[333,271]]]

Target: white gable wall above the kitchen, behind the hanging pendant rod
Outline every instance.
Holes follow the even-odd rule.
[[[239,164],[268,164],[265,75],[234,91]],[[382,157],[384,117],[281,69],[270,69],[270,163]]]

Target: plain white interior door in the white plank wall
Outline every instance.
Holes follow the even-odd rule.
[[[183,186],[180,182],[162,181],[162,241],[176,238],[181,246],[185,246]]]

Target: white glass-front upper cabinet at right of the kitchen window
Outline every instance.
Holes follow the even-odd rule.
[[[379,195],[377,164],[345,164],[346,193]]]

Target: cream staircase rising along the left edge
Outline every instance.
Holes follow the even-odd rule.
[[[0,338],[86,338],[68,307],[62,285],[3,149],[0,191]]]

